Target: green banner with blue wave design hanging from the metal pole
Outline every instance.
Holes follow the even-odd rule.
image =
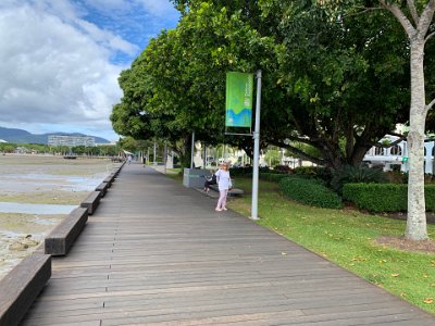
[[[227,127],[251,127],[253,74],[226,73]]]

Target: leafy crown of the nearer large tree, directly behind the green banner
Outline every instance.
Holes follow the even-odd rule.
[[[407,121],[407,42],[387,13],[370,12],[368,20],[355,5],[328,1],[175,2],[184,13],[177,29],[194,59],[188,65],[199,73],[192,85],[216,90],[208,101],[221,124],[224,72],[257,68],[264,76],[263,142],[315,163],[359,164]]]

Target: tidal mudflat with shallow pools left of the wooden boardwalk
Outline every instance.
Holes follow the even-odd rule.
[[[0,278],[38,248],[115,165],[107,159],[0,155]]]

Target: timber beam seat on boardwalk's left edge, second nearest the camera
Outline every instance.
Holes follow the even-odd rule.
[[[76,208],[46,238],[45,252],[51,255],[69,253],[88,221],[88,209]]]

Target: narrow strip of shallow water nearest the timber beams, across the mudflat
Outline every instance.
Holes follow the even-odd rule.
[[[70,214],[76,205],[58,205],[58,204],[30,204],[20,202],[0,202],[0,213],[18,213],[18,214]]]

